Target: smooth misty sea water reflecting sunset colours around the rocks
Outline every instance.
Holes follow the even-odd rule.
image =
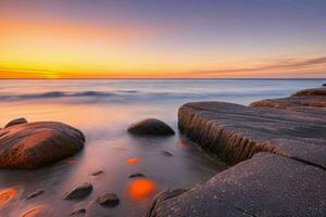
[[[87,208],[88,216],[141,216],[153,195],[166,188],[190,188],[222,171],[226,165],[202,153],[180,135],[168,138],[135,137],[129,124],[156,117],[177,131],[177,108],[189,101],[227,101],[249,104],[281,98],[297,90],[319,87],[325,80],[0,80],[0,126],[17,117],[29,122],[55,120],[86,135],[85,149],[55,165],[36,170],[0,170],[1,191],[12,190],[0,216],[68,216]],[[174,156],[164,156],[168,151]],[[104,174],[91,177],[96,170]],[[129,179],[142,173],[146,179]],[[82,201],[62,200],[84,182],[93,192]],[[46,192],[26,201],[35,190]],[[105,192],[121,199],[115,208],[93,201]],[[2,194],[3,196],[3,194]],[[5,201],[5,200],[4,200]],[[37,216],[37,215],[35,215]]]

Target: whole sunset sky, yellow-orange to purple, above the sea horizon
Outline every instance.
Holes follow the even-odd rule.
[[[325,78],[325,0],[1,0],[0,78]]]

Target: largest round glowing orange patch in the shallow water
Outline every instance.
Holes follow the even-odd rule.
[[[149,179],[136,179],[128,186],[128,196],[133,200],[140,200],[151,195],[156,190],[155,182]]]

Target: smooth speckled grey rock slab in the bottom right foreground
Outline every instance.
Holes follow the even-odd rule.
[[[259,153],[175,196],[161,194],[148,217],[319,217],[326,213],[326,171]]]

